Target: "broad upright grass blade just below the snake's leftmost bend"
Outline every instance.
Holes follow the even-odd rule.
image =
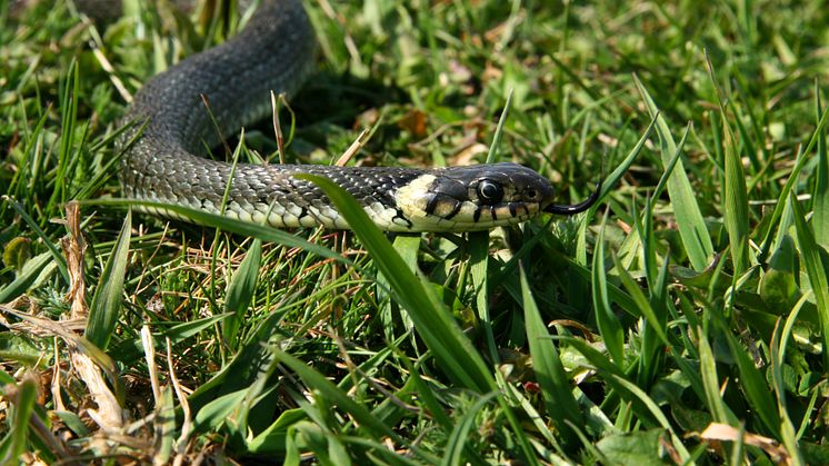
[[[101,349],[107,349],[118,324],[123,295],[123,277],[127,274],[127,255],[130,251],[132,212],[127,212],[121,232],[118,234],[112,254],[98,279],[92,304],[89,306],[89,321],[83,336]]]

